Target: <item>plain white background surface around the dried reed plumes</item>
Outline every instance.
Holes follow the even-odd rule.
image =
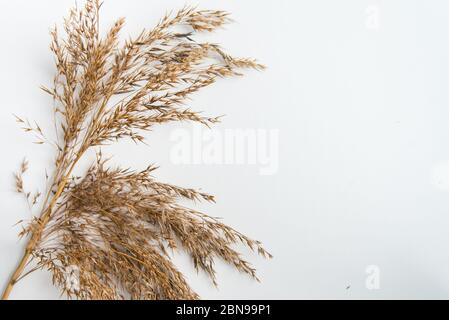
[[[106,0],[102,22],[127,17],[125,34],[154,26],[186,1]],[[236,23],[210,36],[269,69],[224,80],[192,108],[226,114],[219,129],[278,129],[279,171],[256,166],[175,165],[170,134],[150,146],[124,142],[105,153],[159,180],[202,188],[217,205],[199,209],[262,240],[275,258],[248,258],[262,283],[219,265],[220,288],[177,257],[205,299],[449,297],[449,3],[444,0],[198,1]],[[0,287],[18,262],[20,219],[12,172],[27,156],[31,190],[51,169],[49,147],[32,144],[12,114],[51,129],[49,27],[72,0],[0,2]],[[373,20],[374,19],[374,20]],[[209,39],[208,38],[208,39]],[[366,286],[368,266],[380,288]],[[14,299],[58,299],[45,272],[19,283]]]

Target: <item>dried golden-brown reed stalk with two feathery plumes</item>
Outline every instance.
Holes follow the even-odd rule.
[[[121,44],[124,19],[100,37],[100,7],[99,0],[87,0],[83,8],[71,10],[65,36],[56,28],[51,33],[57,74],[53,87],[42,89],[54,99],[59,138],[52,142],[38,124],[17,117],[37,143],[55,146],[57,156],[39,217],[21,233],[29,242],[3,298],[19,280],[46,269],[63,293],[78,299],[196,299],[170,260],[170,251],[177,249],[214,283],[217,258],[256,278],[233,246],[243,243],[271,257],[259,242],[179,204],[182,198],[213,202],[212,196],[159,183],[151,175],[153,167],[142,172],[108,168],[99,148],[122,138],[144,142],[142,133],[162,123],[214,124],[219,118],[183,109],[183,104],[219,78],[263,66],[193,39],[227,23],[225,12],[186,7]],[[97,150],[96,163],[74,177],[91,149]],[[34,206],[41,194],[24,190],[27,169],[24,161],[16,186]],[[34,267],[27,271],[31,261]],[[74,273],[76,285],[70,280]]]

